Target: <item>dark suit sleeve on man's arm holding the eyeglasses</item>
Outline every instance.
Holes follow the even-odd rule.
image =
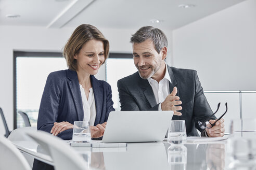
[[[196,128],[202,133],[203,130],[199,127],[198,121],[203,121],[207,117],[213,114],[212,109],[207,102],[206,96],[203,93],[203,88],[197,76],[197,72],[194,73],[195,80],[195,98],[194,98],[194,121]],[[210,119],[216,119],[215,116]]]

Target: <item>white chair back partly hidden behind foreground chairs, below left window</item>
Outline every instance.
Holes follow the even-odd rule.
[[[13,130],[10,135],[8,136],[8,139],[10,141],[15,140],[32,140],[30,137],[28,137],[27,132],[36,132],[37,128],[35,126],[30,127],[20,127],[18,129]]]

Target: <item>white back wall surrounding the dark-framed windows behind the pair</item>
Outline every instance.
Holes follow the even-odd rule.
[[[0,26],[0,107],[3,109],[9,130],[13,129],[13,51],[60,52],[75,28],[46,29],[32,26]],[[110,42],[110,52],[132,53],[130,37],[137,30],[98,29]],[[139,29],[139,28],[138,28]],[[172,33],[163,30],[172,41]],[[64,59],[63,59],[64,60]],[[168,60],[171,60],[169,53]],[[96,76],[105,80],[105,65]],[[4,134],[0,120],[0,134]]]

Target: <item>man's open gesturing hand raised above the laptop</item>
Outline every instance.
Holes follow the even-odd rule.
[[[175,105],[181,105],[182,102],[179,101],[180,97],[176,96],[177,94],[177,88],[174,87],[171,94],[169,94],[163,103],[161,103],[162,110],[172,110],[174,111],[174,115],[181,116],[181,112],[178,112],[177,110],[182,110],[181,106],[175,106]]]

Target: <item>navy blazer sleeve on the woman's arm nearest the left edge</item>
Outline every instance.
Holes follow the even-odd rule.
[[[59,114],[61,92],[61,79],[57,74],[50,73],[46,80],[39,108],[37,130],[42,130],[48,133],[52,130],[54,122],[56,122]],[[72,139],[72,133],[73,129],[69,129],[59,133],[57,136],[68,140]]]

